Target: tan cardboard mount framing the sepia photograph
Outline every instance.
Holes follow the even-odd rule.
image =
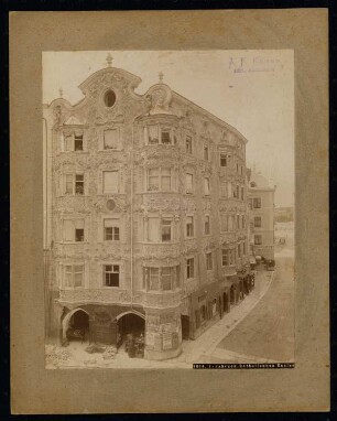
[[[296,368],[45,370],[42,52],[259,48],[295,54]],[[329,409],[327,60],[324,9],[11,13],[14,413]]]

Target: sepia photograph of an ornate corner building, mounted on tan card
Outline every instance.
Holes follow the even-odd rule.
[[[295,363],[293,51],[42,71],[46,368]]]

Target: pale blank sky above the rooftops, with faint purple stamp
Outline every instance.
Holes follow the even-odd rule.
[[[294,204],[294,61],[291,50],[111,51],[113,67],[157,83],[213,112],[247,139],[247,163],[276,184],[276,206]],[[106,67],[107,51],[44,52],[43,102],[75,104],[78,85]],[[243,61],[241,61],[243,58]]]

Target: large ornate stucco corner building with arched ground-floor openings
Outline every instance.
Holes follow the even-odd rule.
[[[44,106],[47,335],[144,333],[165,359],[250,290],[247,140],[110,64]]]

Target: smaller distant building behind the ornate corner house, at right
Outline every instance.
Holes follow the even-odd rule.
[[[250,252],[265,259],[274,259],[274,194],[275,186],[263,175],[250,173]]]

